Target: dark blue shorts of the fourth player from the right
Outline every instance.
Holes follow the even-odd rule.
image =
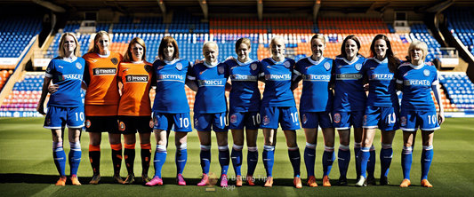
[[[301,112],[301,127],[306,129],[317,129],[317,127],[332,128],[333,119],[331,112]]]

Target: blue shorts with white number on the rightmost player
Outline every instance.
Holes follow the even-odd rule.
[[[436,111],[406,111],[400,113],[400,129],[404,131],[439,130]]]

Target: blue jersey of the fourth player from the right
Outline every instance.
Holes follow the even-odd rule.
[[[333,91],[330,90],[333,59],[319,61],[304,58],[296,62],[294,73],[301,75],[303,89],[300,99],[301,112],[324,112],[333,110]]]

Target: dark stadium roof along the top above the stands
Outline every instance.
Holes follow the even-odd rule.
[[[315,4],[318,11],[343,13],[365,13],[368,11],[436,12],[443,6],[472,7],[472,0],[2,0],[0,5],[37,6],[38,4],[57,5],[64,12],[99,11],[108,9],[125,14],[137,12],[163,13],[163,11],[185,11],[203,14],[203,6],[211,15],[240,13],[257,15],[259,6],[263,14],[312,14]],[[161,4],[161,5],[160,5]],[[259,5],[260,4],[260,5]],[[165,8],[165,10],[163,10]],[[50,8],[51,9],[51,8]],[[59,11],[58,10],[58,11]]]

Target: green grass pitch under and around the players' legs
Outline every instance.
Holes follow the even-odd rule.
[[[474,119],[472,118],[449,118],[441,125],[441,130],[435,132],[434,137],[434,159],[430,169],[429,180],[433,188],[420,186],[422,152],[421,136],[417,135],[414,146],[414,162],[412,166],[412,185],[408,188],[400,188],[402,171],[400,165],[400,154],[402,150],[402,132],[398,130],[395,137],[393,149],[393,161],[391,163],[389,182],[386,186],[355,187],[356,170],[354,154],[351,148],[351,162],[349,164],[349,186],[335,186],[339,177],[337,162],[333,163],[330,178],[332,187],[322,186],[322,164],[323,137],[318,133],[317,140],[317,162],[316,162],[316,188],[306,186],[306,169],[301,159],[301,177],[303,188],[293,187],[293,169],[288,160],[285,145],[285,136],[280,130],[277,134],[277,147],[275,154],[274,178],[275,184],[271,188],[264,188],[263,180],[265,169],[261,162],[261,151],[263,149],[262,134],[259,133],[258,146],[259,163],[254,177],[257,178],[257,186],[234,187],[235,181],[229,182],[229,188],[213,186],[215,192],[206,192],[205,187],[196,186],[200,180],[201,167],[199,165],[199,140],[197,132],[191,132],[188,139],[188,163],[184,169],[184,177],[187,186],[176,184],[174,177],[176,167],[174,164],[175,146],[174,135],[170,136],[168,157],[163,168],[165,185],[148,187],[143,185],[117,185],[112,183],[112,162],[110,158],[110,146],[106,133],[102,135],[100,174],[102,181],[100,185],[88,185],[92,177],[91,165],[88,161],[88,134],[83,132],[81,145],[83,149],[82,162],[79,167],[78,176],[83,185],[74,186],[68,182],[66,186],[56,186],[58,172],[52,161],[52,137],[50,130],[43,129],[44,118],[0,118],[0,193],[2,196],[474,196]],[[298,132],[298,144],[301,157],[305,146],[304,133]],[[336,135],[337,136],[337,135]],[[152,136],[152,148],[155,152],[156,142]],[[336,149],[339,146],[336,137]],[[229,133],[229,147],[232,145],[232,137]],[[351,142],[351,145],[353,142]],[[380,132],[374,139],[377,151],[377,165],[375,177],[380,177],[379,151]],[[140,146],[137,143],[137,156],[135,159],[135,175],[140,177],[141,159]],[[67,138],[64,149],[68,154],[69,146]],[[336,150],[337,151],[337,150]],[[244,163],[242,174],[246,174],[246,146],[244,148]],[[153,154],[152,154],[153,155]],[[217,158],[217,144],[213,137],[211,172],[220,175],[220,166]],[[68,164],[66,172],[68,174]],[[153,164],[150,166],[149,177],[154,174]],[[126,176],[125,163],[122,164],[122,177]],[[235,173],[232,164],[229,166],[229,177]]]

